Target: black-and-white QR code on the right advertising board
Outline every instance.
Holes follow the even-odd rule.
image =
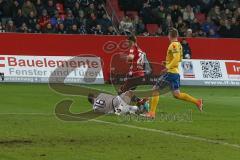
[[[203,71],[203,78],[222,78],[223,75],[219,61],[200,61],[200,63]]]

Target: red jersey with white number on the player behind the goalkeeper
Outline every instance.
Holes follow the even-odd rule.
[[[142,50],[137,46],[137,44],[134,44],[130,48],[129,54],[133,54],[134,56],[133,60],[130,62],[129,75],[133,77],[144,76]]]

